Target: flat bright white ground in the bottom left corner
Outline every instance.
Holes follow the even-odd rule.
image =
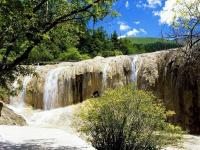
[[[77,135],[61,129],[0,126],[0,150],[94,150]]]

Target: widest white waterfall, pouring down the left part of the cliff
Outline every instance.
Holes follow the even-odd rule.
[[[63,69],[64,69],[64,67],[59,67],[59,68],[50,70],[47,73],[47,76],[45,79],[45,84],[44,84],[44,96],[43,96],[45,110],[54,108],[55,102],[57,102],[59,100],[58,79],[59,79],[59,75]]]

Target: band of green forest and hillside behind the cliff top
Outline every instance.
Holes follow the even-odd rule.
[[[80,61],[96,56],[109,57],[154,52],[180,47],[175,41],[159,38],[126,37],[119,39],[116,31],[109,35],[103,27],[68,34],[63,28],[56,29],[55,38],[46,39],[33,49],[28,63],[54,63],[59,61]],[[59,34],[59,33],[64,34]]]

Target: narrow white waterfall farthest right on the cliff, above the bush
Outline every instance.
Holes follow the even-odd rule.
[[[131,68],[132,68],[132,73],[131,73],[131,82],[137,82],[137,62],[138,62],[138,56],[135,55],[132,57],[132,63],[131,63]]]

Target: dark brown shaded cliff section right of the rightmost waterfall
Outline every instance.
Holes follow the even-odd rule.
[[[174,110],[172,121],[200,133],[200,67],[187,65],[181,50],[142,55],[138,86],[153,90]]]

